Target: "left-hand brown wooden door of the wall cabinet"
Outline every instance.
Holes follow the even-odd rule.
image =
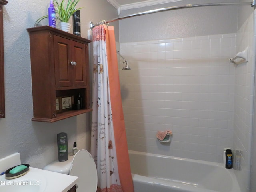
[[[55,86],[72,86],[72,41],[54,35]]]

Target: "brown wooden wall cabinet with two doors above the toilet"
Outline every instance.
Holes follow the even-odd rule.
[[[27,29],[30,34],[30,59],[33,94],[33,121],[55,122],[92,111],[89,92],[90,40],[52,28]],[[82,109],[56,108],[56,98],[82,97]]]

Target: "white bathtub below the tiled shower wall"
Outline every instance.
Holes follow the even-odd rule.
[[[129,150],[135,192],[241,192],[223,164]]]

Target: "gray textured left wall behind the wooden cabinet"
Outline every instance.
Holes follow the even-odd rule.
[[[22,163],[43,168],[57,159],[56,134],[68,133],[78,149],[90,150],[90,113],[54,123],[32,122],[32,86],[29,34],[26,28],[47,14],[49,0],[10,0],[4,6],[4,62],[6,118],[0,119],[0,158],[20,152]],[[82,0],[82,37],[87,38],[89,22],[117,17],[116,9],[106,0]],[[43,21],[42,24],[47,24]],[[72,20],[70,20],[72,22]],[[116,38],[118,25],[115,24]]]

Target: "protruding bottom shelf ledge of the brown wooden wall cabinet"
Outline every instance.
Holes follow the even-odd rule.
[[[49,118],[33,117],[31,120],[32,121],[38,121],[38,122],[53,123],[53,122],[56,122],[56,121],[59,121],[59,120],[62,120],[62,119],[70,118],[70,117],[80,115],[80,114],[83,114],[83,113],[87,113],[87,112],[90,112],[90,111],[92,111],[92,109],[81,109],[81,110],[77,110],[77,111],[71,110],[71,111],[67,111],[67,112],[57,114],[56,118],[49,119]]]

